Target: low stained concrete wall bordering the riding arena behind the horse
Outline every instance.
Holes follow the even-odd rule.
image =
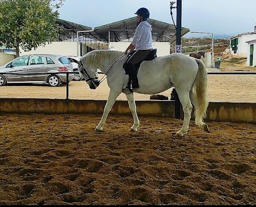
[[[0,112],[102,114],[106,102],[106,100],[0,98]],[[174,101],[171,100],[141,100],[136,101],[136,106],[138,115],[175,117]],[[128,102],[116,101],[110,114],[131,114]],[[256,123],[256,103],[210,102],[206,120]]]

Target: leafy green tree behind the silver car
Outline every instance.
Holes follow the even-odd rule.
[[[65,0],[1,0],[0,46],[29,51],[53,41],[58,32],[58,8]]]

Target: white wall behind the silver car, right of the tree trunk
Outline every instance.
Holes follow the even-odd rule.
[[[19,48],[19,55],[30,55],[30,54],[53,54],[53,55],[70,55],[77,56],[77,42],[73,41],[55,41],[46,43],[44,46],[32,49],[31,51],[24,51]]]

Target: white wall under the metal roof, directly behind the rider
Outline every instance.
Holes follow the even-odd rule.
[[[110,42],[109,50],[125,51],[131,42]],[[157,56],[170,55],[169,42],[153,42],[153,48],[157,48]]]

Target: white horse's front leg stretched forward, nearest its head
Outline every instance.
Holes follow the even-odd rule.
[[[107,120],[107,115],[109,115],[110,110],[112,109],[113,105],[115,104],[115,100],[117,99],[117,97],[119,96],[121,92],[114,92],[112,90],[110,90],[109,92],[109,98],[107,100],[107,103],[105,105],[104,108],[104,112],[102,115],[102,119],[100,119],[99,124],[97,125],[97,127],[95,128],[95,131],[102,131],[104,124]]]

